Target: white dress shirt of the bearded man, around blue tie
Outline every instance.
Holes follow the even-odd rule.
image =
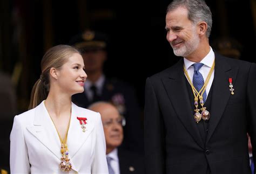
[[[203,58],[200,62],[203,63],[204,65],[199,69],[199,72],[203,75],[204,81],[207,78],[208,73],[210,72],[210,69],[212,68],[213,61],[215,59],[214,52],[212,48],[210,47],[210,52],[206,55],[206,57]],[[194,67],[192,66],[195,62],[187,60],[184,58],[184,65],[187,70],[188,75],[190,76],[190,80],[193,80],[193,75],[194,75]],[[206,95],[208,96],[208,93],[210,92],[212,82],[214,78],[214,69],[211,75],[211,78],[206,86]],[[207,97],[206,97],[207,98]]]

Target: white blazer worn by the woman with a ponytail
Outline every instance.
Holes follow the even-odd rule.
[[[83,132],[77,117],[86,117]],[[59,168],[60,140],[44,102],[15,116],[10,135],[11,173],[66,173]],[[69,173],[106,174],[106,143],[100,114],[72,103]]]

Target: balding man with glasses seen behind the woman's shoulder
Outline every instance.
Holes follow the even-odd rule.
[[[143,174],[143,159],[138,154],[119,148],[123,142],[123,126],[125,120],[117,108],[111,103],[96,102],[89,106],[90,110],[99,112],[102,116],[106,140],[107,166],[110,174]]]

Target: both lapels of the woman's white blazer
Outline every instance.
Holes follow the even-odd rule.
[[[78,109],[79,108],[72,103],[70,128],[68,132],[69,157],[72,164],[72,169],[75,171],[77,171],[77,169],[72,161],[72,157],[75,156],[77,151],[82,147],[86,138],[90,135],[91,131],[95,127],[93,122],[90,120],[90,116],[78,112]],[[83,132],[80,123],[77,120],[77,116],[86,117],[88,119],[85,133]],[[27,129],[43,145],[45,145],[45,147],[48,148],[52,154],[60,159],[61,154],[59,136],[43,102],[38,107],[36,107],[33,126],[29,126]]]

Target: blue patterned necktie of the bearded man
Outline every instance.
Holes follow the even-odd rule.
[[[203,75],[199,72],[199,69],[203,66],[204,64],[202,63],[196,63],[193,64],[192,66],[194,67],[194,75],[193,75],[193,85],[199,92],[200,89],[204,86],[204,78]],[[203,100],[204,103],[206,101],[206,91],[203,94]]]

